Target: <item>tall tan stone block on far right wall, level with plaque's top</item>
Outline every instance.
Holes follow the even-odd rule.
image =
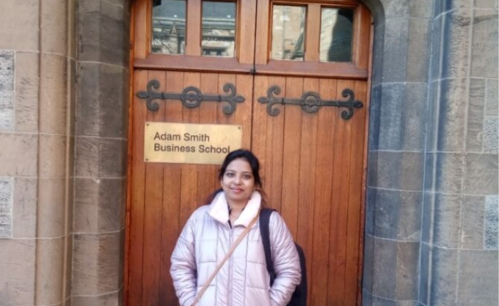
[[[465,78],[441,82],[438,113],[438,151],[461,152],[465,144],[468,80]]]

